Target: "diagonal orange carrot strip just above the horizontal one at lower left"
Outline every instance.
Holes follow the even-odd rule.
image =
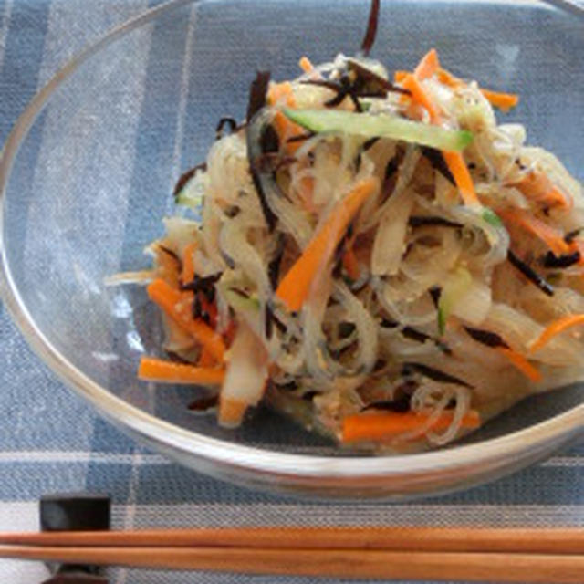
[[[203,347],[206,347],[214,359],[219,363],[223,362],[225,352],[223,339],[202,320],[193,319],[190,304],[184,302],[178,290],[161,279],[151,282],[147,289],[148,296],[153,302],[158,304],[177,325],[191,333]]]

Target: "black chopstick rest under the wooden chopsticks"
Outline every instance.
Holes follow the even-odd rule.
[[[41,531],[107,531],[111,501],[107,495],[89,493],[46,495],[39,506]],[[99,567],[47,564],[53,572],[43,584],[108,584]]]

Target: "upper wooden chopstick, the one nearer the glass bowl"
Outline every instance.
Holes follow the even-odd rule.
[[[0,545],[384,549],[583,555],[584,529],[226,527],[0,534]],[[584,582],[584,579],[582,579]]]

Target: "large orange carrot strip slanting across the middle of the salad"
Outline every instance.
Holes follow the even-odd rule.
[[[360,206],[378,187],[379,181],[375,178],[360,181],[332,209],[318,233],[277,287],[276,296],[289,310],[302,308],[318,271],[326,266]]]

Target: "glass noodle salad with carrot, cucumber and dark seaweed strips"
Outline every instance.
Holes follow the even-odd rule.
[[[134,278],[167,333],[140,378],[208,386],[193,409],[223,426],[265,400],[409,452],[582,378],[581,184],[497,122],[515,95],[434,49],[412,71],[371,59],[378,11],[357,57],[257,73]]]

